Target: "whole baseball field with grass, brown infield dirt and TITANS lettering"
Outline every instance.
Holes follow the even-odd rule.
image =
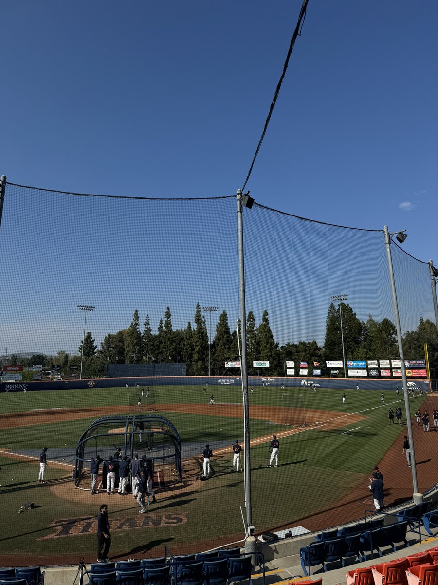
[[[114,558],[158,556],[165,545],[173,553],[207,550],[244,537],[244,474],[230,473],[231,445],[244,439],[239,386],[209,385],[206,394],[197,385],[152,388],[155,411],[150,414],[169,419],[177,429],[184,470],[182,481],[157,489],[157,503],[146,514],[138,513],[131,494],[91,495],[75,486],[78,439],[100,417],[138,411],[137,404],[130,404],[136,391],[119,387],[0,395],[2,566],[28,565],[30,559],[41,565],[95,560],[96,515],[102,503],[109,506]],[[406,433],[406,419],[430,400],[426,395],[412,398],[408,415],[402,394],[385,393],[385,404],[380,398],[380,391],[373,390],[255,388],[249,418],[257,534],[290,526],[315,529],[315,522],[324,528],[324,513],[366,484],[373,466]],[[390,425],[388,409],[397,405],[403,424]],[[142,414],[148,413],[144,405]],[[267,467],[273,433],[280,441],[279,466]],[[114,440],[108,436],[108,452]],[[214,472],[199,481],[206,443],[213,450]],[[45,446],[47,483],[41,484],[39,454]],[[154,457],[154,450],[145,452],[141,443],[134,448],[140,456]],[[34,504],[32,510],[19,514],[26,502]],[[363,509],[370,505],[364,503]]]

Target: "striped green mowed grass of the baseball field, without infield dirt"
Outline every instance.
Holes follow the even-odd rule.
[[[158,502],[147,514],[138,515],[138,504],[132,497],[106,494],[91,497],[88,493],[72,488],[72,457],[65,457],[65,467],[50,465],[49,482],[36,483],[39,463],[32,458],[43,446],[51,453],[66,449],[74,453],[78,438],[97,417],[89,417],[81,409],[121,405],[126,407],[133,388],[91,388],[86,390],[39,391],[0,395],[0,412],[26,412],[38,414],[41,409],[73,408],[75,417],[66,422],[53,422],[50,414],[39,425],[4,428],[0,430],[0,494],[4,508],[1,541],[3,554],[23,550],[27,553],[47,555],[61,553],[68,543],[68,550],[79,556],[95,556],[96,535],[92,520],[102,501],[109,505],[110,518],[116,521],[113,530],[112,555],[140,555],[147,552],[152,542],[157,555],[165,544],[171,548],[183,548],[192,543],[209,539],[231,542],[242,538],[243,526],[240,505],[244,504],[243,474],[230,474],[231,443],[243,440],[242,417],[212,416],[215,405],[204,414],[184,414],[166,411],[166,404],[208,404],[214,394],[215,404],[242,402],[238,386],[208,386],[207,395],[202,386],[151,386],[155,395],[155,414],[168,418],[178,430],[183,444],[193,443],[194,466],[201,465],[201,445],[213,443],[227,448],[214,459],[214,476],[208,481],[194,481],[194,476],[183,477],[185,491],[170,489],[157,493]],[[402,395],[385,393],[385,405],[380,405],[380,391],[345,390],[346,404],[342,404],[344,390],[318,388],[316,394],[310,388],[256,387],[249,397],[250,405],[283,405],[284,394],[304,396],[305,410],[318,409],[335,413],[357,413],[367,418],[360,422],[342,421],[340,428],[322,431],[312,425],[305,432],[285,436],[280,440],[280,466],[267,469],[269,442],[251,448],[253,523],[256,529],[273,529],[290,525],[298,518],[317,514],[335,505],[357,486],[383,457],[399,435],[406,432],[406,425],[388,424],[388,408],[400,404],[405,411]],[[423,403],[424,398],[411,400],[411,415]],[[133,408],[133,412],[135,412]],[[52,411],[51,411],[52,412]],[[57,411],[53,411],[57,412]],[[152,413],[154,414],[154,413]],[[404,422],[406,413],[404,412]],[[328,417],[332,417],[328,415]],[[23,416],[23,419],[25,417]],[[27,418],[27,417],[26,417]],[[321,421],[321,424],[324,420]],[[269,419],[251,419],[251,438],[269,437],[272,433],[290,430],[291,426],[273,424]],[[199,445],[197,445],[199,443]],[[214,450],[214,449],[213,449]],[[243,459],[243,457],[242,457]],[[55,489],[56,488],[56,489]],[[53,491],[56,491],[56,494]],[[69,497],[71,490],[75,500]],[[33,501],[38,507],[18,515],[18,508],[25,501]],[[75,525],[77,534],[44,538],[55,532],[49,525],[69,519],[80,519]],[[163,520],[164,519],[164,520]],[[178,523],[175,519],[182,519]],[[120,520],[120,522],[119,522]],[[142,521],[144,529],[135,528]],[[121,524],[121,522],[124,524]],[[167,523],[166,523],[167,522]],[[120,528],[118,524],[120,524]],[[131,523],[131,524],[130,524]],[[134,524],[133,524],[134,523]],[[151,524],[148,526],[147,524]],[[63,525],[63,524],[62,524]],[[73,525],[71,525],[73,526]],[[71,528],[70,526],[70,528]],[[321,526],[324,528],[324,526]],[[41,539],[42,538],[42,539]],[[200,545],[203,548],[203,545]],[[154,555],[154,550],[150,553]],[[1,560],[1,556],[0,556]]]

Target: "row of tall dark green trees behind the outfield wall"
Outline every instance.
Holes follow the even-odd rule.
[[[360,321],[352,307],[341,303],[342,333],[345,357],[350,359],[397,359],[397,332],[389,319],[375,321],[371,315],[366,322]],[[332,303],[326,318],[324,346],[313,341],[286,343],[279,346],[274,339],[269,325],[267,310],[256,325],[252,311],[246,318],[246,340],[248,350],[248,373],[250,376],[284,376],[286,361],[305,361],[308,364],[325,360],[342,360],[342,333],[340,311]],[[415,331],[408,331],[404,336],[405,359],[421,359],[424,356],[424,344],[427,343],[432,377],[438,375],[438,335],[436,326],[429,320],[420,319]],[[82,347],[83,345],[83,347]],[[211,351],[211,375],[223,376],[238,370],[225,371],[225,362],[238,360],[238,334],[231,331],[227,311],[221,312],[214,338],[209,347],[206,318],[199,303],[194,312],[193,326],[187,323],[185,329],[173,329],[170,307],[166,307],[164,319],[160,319],[157,333],[152,332],[150,316],[146,315],[142,328],[140,315],[135,309],[131,324],[127,329],[117,333],[108,333],[100,344],[96,345],[91,332],[86,333],[83,343],[78,348],[79,356],[68,356],[61,351],[51,360],[53,364],[68,367],[80,362],[84,353],[84,377],[105,376],[108,363],[186,363],[187,376],[208,374],[209,350]],[[32,356],[31,363],[43,363],[42,357]],[[255,369],[253,362],[267,360],[269,368]]]

